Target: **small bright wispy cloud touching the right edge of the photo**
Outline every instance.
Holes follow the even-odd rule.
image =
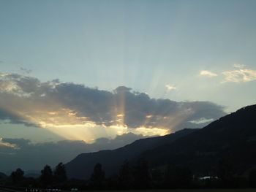
[[[256,71],[252,69],[236,69],[222,72],[225,75],[223,82],[249,82],[256,80]]]

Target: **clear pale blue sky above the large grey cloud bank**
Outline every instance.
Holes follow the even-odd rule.
[[[256,1],[0,5],[2,77],[59,79],[110,93],[126,86],[151,99],[210,101],[225,112],[255,104]],[[10,130],[5,137],[18,137]]]

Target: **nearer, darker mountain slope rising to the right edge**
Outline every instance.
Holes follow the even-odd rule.
[[[147,150],[140,157],[150,166],[182,164],[194,172],[216,172],[220,159],[236,173],[256,165],[256,105],[241,108],[170,145]]]

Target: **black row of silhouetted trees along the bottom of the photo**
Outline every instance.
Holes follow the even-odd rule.
[[[131,166],[124,161],[118,174],[105,177],[102,164],[95,164],[89,180],[68,179],[65,166],[59,163],[55,169],[46,165],[37,178],[24,177],[22,169],[16,169],[2,185],[25,188],[59,189],[150,189],[150,188],[256,188],[256,169],[246,177],[234,174],[227,161],[219,161],[217,176],[199,177],[186,166],[168,164],[159,169],[149,169],[147,161],[140,158]]]

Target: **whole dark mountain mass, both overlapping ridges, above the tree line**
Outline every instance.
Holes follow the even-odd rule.
[[[88,179],[94,164],[101,163],[109,175],[125,160],[146,158],[151,168],[177,164],[197,174],[216,174],[220,160],[237,173],[256,164],[256,105],[219,118],[201,129],[184,129],[164,137],[140,139],[116,150],[83,153],[66,164],[69,177]]]

